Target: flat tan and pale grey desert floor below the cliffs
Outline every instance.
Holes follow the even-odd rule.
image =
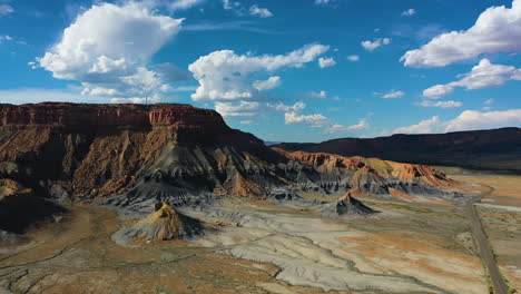
[[[520,178],[459,179],[497,185],[478,209],[500,270],[519,287],[521,213],[491,205],[521,207]],[[0,293],[489,293],[463,205],[362,200],[382,213],[327,219],[230,197],[209,213],[185,212],[212,227],[196,241],[140,248],[111,239],[122,224],[114,210],[77,205],[31,243],[2,247]]]

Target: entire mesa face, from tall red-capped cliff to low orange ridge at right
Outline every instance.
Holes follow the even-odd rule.
[[[289,195],[288,187],[452,195],[443,189],[453,182],[430,168],[274,150],[216,111],[189,105],[0,105],[0,179],[42,198],[145,212],[161,200],[264,199],[274,190]]]

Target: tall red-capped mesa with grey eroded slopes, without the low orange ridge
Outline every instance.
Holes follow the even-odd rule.
[[[0,177],[52,197],[114,196],[161,178],[213,190],[227,171],[267,174],[281,160],[188,105],[2,105],[0,120]]]

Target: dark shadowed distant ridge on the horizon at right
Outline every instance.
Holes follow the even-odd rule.
[[[377,157],[424,165],[521,173],[521,128],[500,128],[379,138],[340,138],[323,143],[283,143],[288,151]]]

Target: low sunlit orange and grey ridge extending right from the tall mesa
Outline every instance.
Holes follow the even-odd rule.
[[[343,157],[332,154],[288,153],[273,148],[291,159],[288,175],[308,190],[326,194],[351,192],[353,195],[405,194],[458,198],[450,192],[458,183],[426,166],[400,164],[379,158]]]

